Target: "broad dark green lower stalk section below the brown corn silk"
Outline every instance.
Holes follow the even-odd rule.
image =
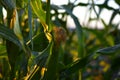
[[[56,80],[57,78],[57,66],[58,66],[59,47],[53,44],[52,53],[49,56],[47,63],[47,71],[42,80]]]

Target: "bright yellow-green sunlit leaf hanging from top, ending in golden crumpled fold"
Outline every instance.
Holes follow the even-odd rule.
[[[45,22],[46,19],[46,13],[45,11],[42,9],[42,3],[41,0],[31,0],[31,7],[33,9],[33,12],[38,16],[38,18],[40,19],[40,22],[44,28],[44,32],[45,35],[47,37],[47,39],[49,40],[49,42],[51,42],[52,40],[52,35],[49,33],[48,31],[48,25]]]

